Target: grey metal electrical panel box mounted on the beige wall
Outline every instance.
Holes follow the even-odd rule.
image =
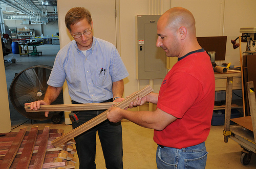
[[[157,21],[161,15],[136,16],[136,78],[164,78],[166,55],[157,42]]]

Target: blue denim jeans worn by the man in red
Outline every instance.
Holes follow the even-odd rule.
[[[162,147],[162,146],[161,146]],[[157,147],[156,162],[157,168],[195,168],[201,169],[206,166],[208,152],[205,143],[183,149],[170,147]]]

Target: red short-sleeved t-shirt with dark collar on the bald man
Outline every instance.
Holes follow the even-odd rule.
[[[204,142],[209,134],[215,100],[215,77],[209,55],[190,52],[165,76],[157,108],[178,118],[162,131],[154,131],[154,141],[162,146],[186,148]]]

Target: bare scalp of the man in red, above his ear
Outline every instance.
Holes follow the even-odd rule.
[[[185,26],[189,34],[196,36],[196,21],[193,14],[185,8],[174,7],[166,11],[160,19],[166,29],[177,30]]]

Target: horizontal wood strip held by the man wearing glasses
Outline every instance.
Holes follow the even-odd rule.
[[[119,102],[107,102],[107,103],[87,103],[87,104],[51,104],[51,105],[40,105],[38,110],[31,110],[29,105],[25,106],[27,112],[36,111],[80,111],[80,110],[103,110],[108,109],[112,105]]]

